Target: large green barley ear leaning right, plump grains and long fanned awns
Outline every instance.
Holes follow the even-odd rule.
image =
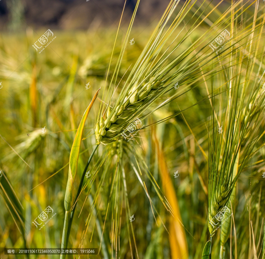
[[[185,40],[189,40],[191,34],[198,28],[198,24],[191,22],[190,19],[188,19],[190,21],[188,24],[184,26],[181,24],[185,17],[189,17],[193,8],[192,2],[187,1],[178,13],[176,9],[180,1],[170,2],[130,74],[126,75],[127,78],[124,82],[119,83],[122,84],[122,89],[117,98],[114,98],[118,71],[130,36],[131,22],[113,76],[109,81],[106,79],[106,84],[109,82],[109,87],[106,96],[104,96],[103,92],[95,131],[98,142],[109,144],[123,139],[122,132],[136,118],[143,120],[148,116],[145,111],[152,107],[151,112],[153,112],[180,95],[180,89],[171,94],[176,82],[182,85],[183,92],[181,94],[185,94],[185,91],[188,91],[188,89],[184,90],[185,88],[202,78],[197,76],[198,72],[201,73],[201,68],[207,67],[206,70],[209,69],[209,60],[213,60],[213,63],[218,64],[218,66],[220,65],[220,60],[223,57],[219,55],[219,60],[213,58],[208,47],[208,41],[213,39],[209,39],[210,36],[206,36],[208,31],[196,39],[189,47],[186,47],[186,44],[183,43]],[[138,3],[139,1],[137,1],[137,6]],[[198,11],[200,8],[203,13],[205,11],[204,7],[200,6]],[[207,19],[207,15],[204,18],[200,16],[200,18],[202,19],[201,22],[203,22]],[[216,24],[221,21],[221,18],[218,19]],[[214,26],[215,24],[213,24]],[[137,39],[135,38],[135,40]],[[200,41],[203,41],[204,51],[208,51],[209,54],[202,54],[201,49],[194,50]],[[184,46],[185,50],[183,51]],[[173,53],[176,54],[176,57],[173,57]],[[198,66],[200,62],[201,66]],[[216,69],[218,69],[217,67]],[[203,73],[206,74],[206,71]],[[203,78],[205,79],[205,77]],[[184,84],[187,84],[187,87],[184,87]],[[168,93],[171,96],[165,97],[165,94]],[[125,134],[130,136],[128,131]]]

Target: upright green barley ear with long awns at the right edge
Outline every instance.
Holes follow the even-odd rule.
[[[209,131],[208,228],[211,237],[221,226],[222,220],[229,216],[227,213],[221,213],[228,205],[244,166],[258,149],[257,141],[263,134],[260,118],[265,108],[265,91],[262,88],[264,72],[261,67],[256,66],[256,56],[246,57],[243,54],[244,51],[254,51],[258,56],[257,50],[261,48],[259,44],[264,20],[256,25],[256,17],[255,13],[251,30],[248,27],[239,29],[234,26],[233,34],[238,35],[235,46],[240,48],[233,49],[227,55],[229,66],[221,72],[226,80],[223,81],[218,73],[212,81],[212,92],[218,82],[216,88],[221,94],[218,96],[218,104],[213,97]],[[262,47],[264,49],[264,46]],[[246,63],[242,62],[243,59]],[[216,108],[218,112],[215,111]],[[222,237],[222,242],[225,240],[226,235]]]

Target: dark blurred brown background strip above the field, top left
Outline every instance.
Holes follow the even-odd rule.
[[[131,19],[137,0],[127,0],[123,21]],[[141,0],[135,24],[161,17],[170,0]],[[89,29],[118,24],[125,0],[0,0],[0,30]]]

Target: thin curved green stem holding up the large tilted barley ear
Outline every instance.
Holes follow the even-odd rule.
[[[87,167],[89,166],[90,161],[92,160],[92,157],[94,156],[98,146],[99,146],[99,143],[95,146],[93,152],[91,153],[91,155],[90,155],[90,157],[89,157],[89,159],[87,161],[87,164],[85,166],[85,169],[83,171],[83,174],[82,174],[82,177],[81,177],[81,180],[80,180],[80,183],[79,183],[77,194],[76,194],[75,199],[74,199],[74,206],[72,208],[72,211],[65,211],[64,229],[63,229],[63,234],[62,234],[61,249],[67,248],[69,235],[70,235],[70,232],[71,232],[71,226],[72,226],[72,222],[73,222],[73,217],[74,217],[74,211],[75,211],[75,208],[76,208],[76,205],[77,205],[77,199],[78,199],[78,197],[79,197],[79,195],[81,193],[81,190],[82,190],[82,185],[83,185],[83,181],[84,181],[84,178],[85,178],[85,174],[87,172]],[[65,258],[65,255],[61,255],[60,256],[60,259],[63,259],[63,258]]]

